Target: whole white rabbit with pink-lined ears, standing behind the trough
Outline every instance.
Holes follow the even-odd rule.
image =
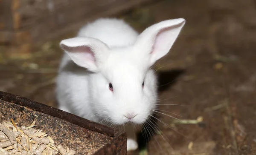
[[[62,40],[59,109],[106,125],[145,123],[157,108],[150,67],[169,52],[184,24],[183,18],[165,20],[139,34],[123,20],[100,18]],[[135,135],[127,133],[127,150],[137,149]]]

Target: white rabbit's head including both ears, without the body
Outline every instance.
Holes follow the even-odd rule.
[[[147,120],[157,108],[157,78],[150,67],[169,52],[184,24],[183,18],[156,23],[124,47],[91,37],[61,41],[71,60],[91,73],[90,99],[97,117],[113,124]]]

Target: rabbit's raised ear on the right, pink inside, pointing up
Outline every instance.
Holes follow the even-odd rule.
[[[149,55],[149,66],[153,65],[169,52],[185,22],[183,18],[164,20],[145,29],[134,44],[137,55]]]

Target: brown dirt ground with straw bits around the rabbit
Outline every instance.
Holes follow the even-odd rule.
[[[161,132],[151,138],[149,155],[256,155],[255,1],[158,0],[116,17],[138,31],[161,20],[186,19],[171,52],[156,66],[165,115],[158,113]],[[0,52],[0,90],[56,107],[58,42],[19,59]],[[179,124],[168,115],[203,121]]]

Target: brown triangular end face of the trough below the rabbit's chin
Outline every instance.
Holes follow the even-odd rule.
[[[93,155],[127,155],[127,134],[122,132]]]

